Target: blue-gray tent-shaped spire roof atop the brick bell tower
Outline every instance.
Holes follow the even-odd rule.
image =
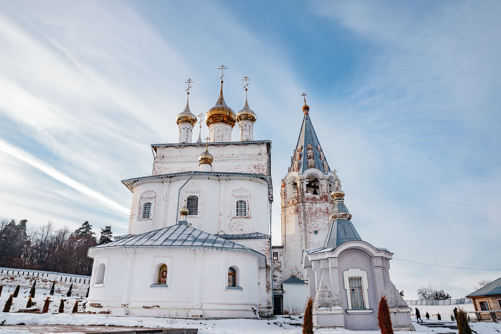
[[[305,116],[299,132],[298,144],[294,149],[290,170],[302,173],[308,168],[316,168],[326,173],[330,170],[329,164],[318,141],[317,133],[313,128],[310,119],[310,107],[306,105],[306,99],[303,112]]]

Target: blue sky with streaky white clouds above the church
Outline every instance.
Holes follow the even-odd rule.
[[[305,92],[364,240],[501,268],[500,14],[498,1],[0,1],[0,215],[126,233],[120,180],[151,174],[149,145],[177,140],[188,77],[191,110],[213,105],[224,63],[226,101],[240,109],[249,76],[255,138],[273,141],[276,242]],[[391,262],[412,299],[501,276]]]

